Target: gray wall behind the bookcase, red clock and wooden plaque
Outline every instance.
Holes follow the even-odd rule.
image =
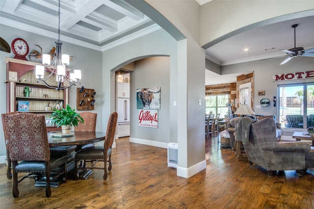
[[[11,46],[11,42],[15,38],[22,38],[24,39],[28,46],[29,50],[40,50],[37,46],[39,45],[43,48],[43,53],[48,53],[50,49],[55,46],[54,42],[57,40],[56,37],[48,38],[45,36],[41,36],[35,33],[19,30],[13,27],[9,27],[6,25],[0,24],[0,37],[6,40],[6,42]],[[62,36],[60,37],[62,41]],[[97,113],[97,131],[105,131],[106,127],[104,127],[102,123],[102,103],[104,102],[103,99],[103,87],[102,87],[102,77],[99,76],[102,73],[102,52],[96,51],[93,49],[81,47],[78,45],[73,45],[66,43],[64,41],[62,45],[62,53],[69,54],[70,56],[74,56],[73,61],[70,62],[69,68],[72,70],[79,69],[82,73],[82,79],[80,81],[81,85],[77,85],[77,87],[72,87],[69,92],[69,100],[70,105],[72,108],[76,109],[77,104],[77,88],[84,86],[88,89],[94,89],[96,94],[96,103],[95,103],[95,110],[93,112]],[[6,53],[0,51],[0,114],[6,112],[6,90],[5,90],[5,75],[6,75],[6,66],[3,62],[5,57],[13,58],[14,54]],[[28,56],[27,56],[28,59]],[[41,62],[41,60],[32,59],[33,62]],[[81,112],[81,111],[78,111]],[[0,157],[5,156],[5,145],[3,139],[3,131],[2,131],[2,121],[0,120]]]

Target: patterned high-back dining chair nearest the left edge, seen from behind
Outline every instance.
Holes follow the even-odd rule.
[[[18,184],[25,178],[46,176],[46,197],[51,196],[50,183],[66,176],[66,156],[50,155],[45,116],[32,113],[2,114],[3,130],[8,134],[8,148],[12,161],[13,197],[19,196]],[[63,171],[51,179],[50,172],[60,165]],[[18,173],[28,173],[18,180]]]

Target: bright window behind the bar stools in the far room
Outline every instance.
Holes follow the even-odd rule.
[[[224,117],[228,112],[228,107],[226,106],[228,102],[229,94],[206,96],[206,114],[209,114],[209,112],[215,115],[220,113],[220,117]]]

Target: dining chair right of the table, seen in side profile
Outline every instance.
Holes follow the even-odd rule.
[[[78,180],[78,169],[103,169],[104,176],[103,179],[106,180],[108,177],[108,171],[107,171],[107,162],[109,163],[108,170],[110,171],[112,168],[111,164],[111,146],[113,143],[116,126],[117,126],[117,118],[118,114],[116,112],[113,112],[110,114],[107,124],[107,130],[106,130],[106,136],[105,136],[105,143],[104,146],[90,146],[85,147],[78,151],[75,155],[75,180]],[[79,161],[86,161],[91,160],[94,161],[92,166],[83,166],[79,167],[78,162]],[[104,167],[95,167],[96,163],[98,161],[103,161],[105,163]]]

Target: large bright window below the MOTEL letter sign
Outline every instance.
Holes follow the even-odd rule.
[[[279,85],[279,122],[285,128],[314,126],[314,83]]]

